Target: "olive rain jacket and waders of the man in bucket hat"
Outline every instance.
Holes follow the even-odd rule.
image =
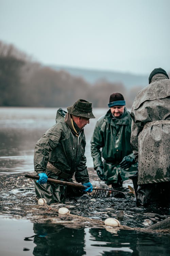
[[[71,131],[65,122],[67,112],[62,109],[57,110],[56,124],[52,126],[38,140],[34,150],[34,170],[35,174],[45,172],[52,179],[72,181],[75,173],[77,182],[89,182],[89,176],[86,167],[85,153],[85,135],[81,130],[79,136]],[[46,168],[48,161],[60,169],[70,174],[70,179],[66,180],[57,176]],[[47,203],[60,202],[65,200],[66,186],[56,184],[38,184],[35,182],[35,189],[38,198],[46,198]]]

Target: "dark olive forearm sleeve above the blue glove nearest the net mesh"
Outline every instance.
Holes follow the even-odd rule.
[[[78,166],[77,170],[75,171],[75,180],[78,183],[87,183],[89,182],[89,175],[87,171],[87,166],[86,166],[86,157],[85,155],[82,156],[80,165]]]

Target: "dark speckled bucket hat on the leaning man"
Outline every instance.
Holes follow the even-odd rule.
[[[95,118],[92,113],[92,103],[87,100],[78,99],[73,106],[67,108],[67,111],[71,115]]]

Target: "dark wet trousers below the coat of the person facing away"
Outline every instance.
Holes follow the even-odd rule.
[[[136,193],[136,205],[167,206],[170,203],[170,181],[139,185]]]

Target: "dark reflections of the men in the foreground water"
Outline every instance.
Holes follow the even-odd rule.
[[[53,255],[119,255],[168,256],[170,237],[120,230],[71,229],[54,224],[34,224],[35,256]],[[27,238],[28,239],[28,238]]]

